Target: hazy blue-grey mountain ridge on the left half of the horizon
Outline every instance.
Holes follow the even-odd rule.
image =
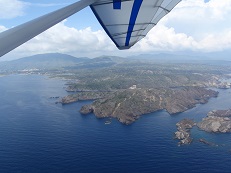
[[[102,68],[124,61],[125,58],[116,56],[100,56],[90,59],[86,57],[77,58],[67,54],[48,53],[0,62],[0,71]]]

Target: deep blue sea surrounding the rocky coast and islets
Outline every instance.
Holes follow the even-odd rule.
[[[44,76],[0,78],[0,172],[231,172],[231,134],[192,130],[194,142],[177,146],[176,122],[199,121],[212,109],[231,107],[231,90],[205,105],[170,116],[161,111],[130,126],[93,115],[82,116],[80,102],[56,105],[64,82]],[[199,143],[199,138],[220,144]]]

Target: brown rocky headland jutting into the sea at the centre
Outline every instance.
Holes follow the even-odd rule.
[[[112,117],[123,124],[131,124],[141,115],[158,110],[166,110],[171,115],[184,112],[217,95],[218,92],[201,87],[127,89],[97,99],[83,106],[80,112],[93,112],[98,118]]]

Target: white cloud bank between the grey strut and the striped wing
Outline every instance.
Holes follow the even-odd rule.
[[[115,46],[104,31],[92,31],[90,27],[78,30],[65,26],[65,21],[50,28],[28,43],[17,48],[18,53],[60,52],[71,54],[97,54],[110,52]]]

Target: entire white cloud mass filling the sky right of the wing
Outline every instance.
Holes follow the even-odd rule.
[[[230,0],[183,0],[131,51],[231,49],[230,21]]]

